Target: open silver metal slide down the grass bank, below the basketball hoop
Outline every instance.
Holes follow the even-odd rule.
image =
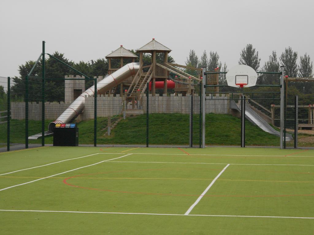
[[[241,112],[241,108],[236,105],[236,102],[234,100],[230,100],[229,107]],[[265,122],[265,120],[261,118],[261,116],[259,116],[256,112],[252,110],[251,107],[249,107],[249,105],[247,105],[247,103],[245,104],[245,117],[247,120],[249,120],[254,125],[257,125],[263,131],[266,131],[272,135],[280,136],[280,132],[276,131],[267,122]],[[286,140],[288,141],[293,140],[292,135],[286,133]]]

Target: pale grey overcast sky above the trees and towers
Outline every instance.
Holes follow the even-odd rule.
[[[43,40],[46,53],[74,62],[103,58],[121,44],[138,49],[152,38],[179,64],[191,49],[199,57],[206,50],[230,68],[249,43],[261,66],[288,46],[313,60],[313,10],[310,0],[1,0],[0,76],[19,76],[18,66],[37,60]]]

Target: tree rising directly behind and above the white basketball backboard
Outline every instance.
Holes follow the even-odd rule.
[[[248,65],[257,71],[260,61],[258,51],[255,51],[252,44],[247,44],[240,53],[239,65]]]

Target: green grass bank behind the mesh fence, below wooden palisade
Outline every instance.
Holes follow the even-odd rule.
[[[116,117],[117,120],[120,117]],[[193,141],[199,143],[198,115],[194,115]],[[52,120],[46,120],[45,127]],[[97,144],[146,144],[146,115],[130,116],[118,122],[111,135],[106,135],[107,118],[97,118]],[[113,123],[113,122],[112,122]],[[24,120],[11,121],[11,143],[25,143]],[[40,121],[29,121],[29,135],[41,132]],[[94,143],[94,120],[77,123],[79,128],[79,144]],[[6,142],[6,124],[0,125],[0,143]],[[240,118],[228,114],[206,114],[206,145],[240,146]],[[313,135],[308,135],[313,136]],[[299,134],[299,138],[302,134]],[[313,142],[300,143],[300,147],[313,147]],[[46,144],[52,144],[52,136],[45,138]],[[40,144],[41,139],[30,140],[30,144]],[[292,143],[292,142],[291,142]],[[290,144],[291,144],[290,143]],[[151,145],[188,145],[189,115],[154,113],[149,115],[149,144]],[[289,143],[287,142],[289,145]],[[287,145],[287,146],[288,146]],[[264,132],[246,120],[246,146],[279,146],[279,137]]]

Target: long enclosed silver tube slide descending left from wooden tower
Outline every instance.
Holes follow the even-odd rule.
[[[138,70],[139,63],[129,63],[124,65],[111,75],[106,76],[103,80],[97,82],[97,94],[104,94],[106,91],[109,91],[113,87],[117,86],[128,77],[135,75]],[[49,123],[48,131],[45,132],[45,136],[53,133],[53,128],[56,123],[68,123],[73,118],[78,116],[84,110],[85,96],[93,96],[94,89],[94,86],[89,87],[70,104],[70,106],[59,116],[59,118],[57,118],[54,122]],[[41,133],[32,135],[28,137],[28,139],[38,139],[41,135]]]

